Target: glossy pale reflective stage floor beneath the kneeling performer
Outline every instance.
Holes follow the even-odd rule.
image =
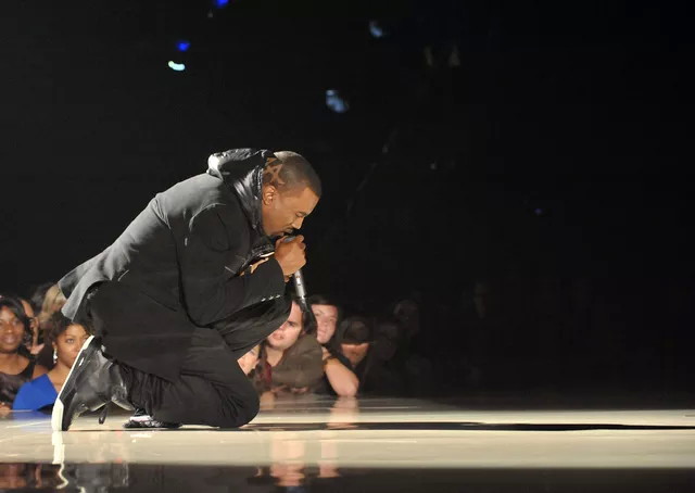
[[[112,414],[62,433],[12,413],[0,489],[695,491],[695,409],[577,407],[302,396],[238,430],[126,431]]]

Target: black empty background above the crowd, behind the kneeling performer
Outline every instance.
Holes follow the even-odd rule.
[[[4,292],[28,294],[99,253],[211,152],[290,149],[325,187],[305,227],[309,290],[371,315],[416,300],[419,351],[454,390],[466,389],[464,353],[496,368],[491,387],[692,389],[693,29],[682,5],[78,0],[2,11]],[[370,20],[388,35],[372,37]],[[349,112],[326,106],[329,88]]]

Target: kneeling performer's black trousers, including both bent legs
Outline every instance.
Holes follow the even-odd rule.
[[[131,403],[160,421],[222,428],[248,424],[258,413],[258,395],[237,359],[280,327],[290,308],[290,300],[280,298],[195,329],[176,381],[121,365]]]

